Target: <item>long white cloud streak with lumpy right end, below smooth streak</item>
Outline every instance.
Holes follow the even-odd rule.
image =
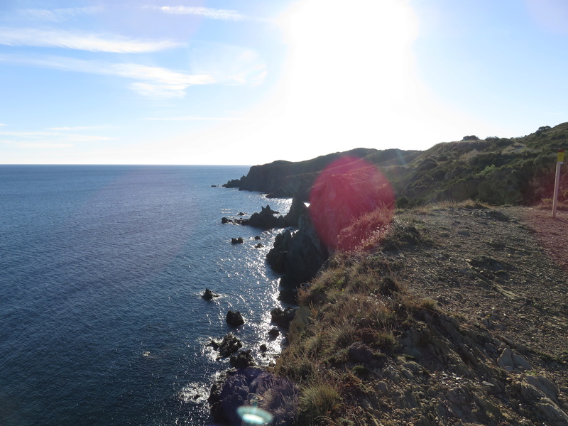
[[[211,75],[190,75],[162,67],[149,67],[132,63],[113,63],[97,60],[80,60],[60,56],[29,58],[20,55],[0,55],[0,62],[33,65],[55,70],[86,72],[98,75],[114,75],[132,80],[130,88],[147,97],[183,97],[185,90],[194,84],[216,82]]]

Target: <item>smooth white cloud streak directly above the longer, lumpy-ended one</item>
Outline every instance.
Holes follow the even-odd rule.
[[[38,28],[0,28],[0,44],[110,53],[150,53],[182,45],[171,40],[141,40],[123,35]]]

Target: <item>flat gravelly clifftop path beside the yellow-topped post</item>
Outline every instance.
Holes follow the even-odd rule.
[[[461,321],[526,346],[568,387],[568,213],[504,207],[408,212],[432,246],[404,252],[401,277]],[[546,366],[545,366],[546,364]]]

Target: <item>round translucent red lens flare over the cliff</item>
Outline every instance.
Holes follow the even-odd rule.
[[[329,249],[364,248],[388,228],[394,200],[391,183],[374,165],[359,158],[340,158],[312,187],[310,217]]]

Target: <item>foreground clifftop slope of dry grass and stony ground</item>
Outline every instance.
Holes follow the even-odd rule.
[[[300,290],[275,366],[231,383],[273,425],[567,425],[566,223],[399,210],[373,249],[334,253]]]

